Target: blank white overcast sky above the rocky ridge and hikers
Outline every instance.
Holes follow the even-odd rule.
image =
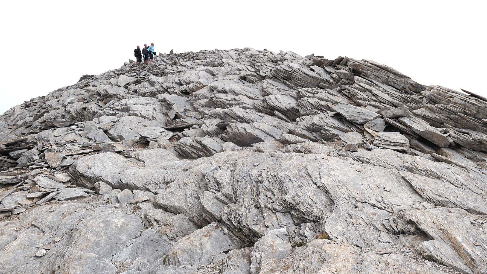
[[[156,52],[252,47],[386,64],[487,96],[484,1],[2,1],[0,113]]]

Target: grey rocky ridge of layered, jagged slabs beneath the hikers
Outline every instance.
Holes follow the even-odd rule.
[[[83,76],[0,117],[0,273],[487,273],[486,105],[251,48]]]

